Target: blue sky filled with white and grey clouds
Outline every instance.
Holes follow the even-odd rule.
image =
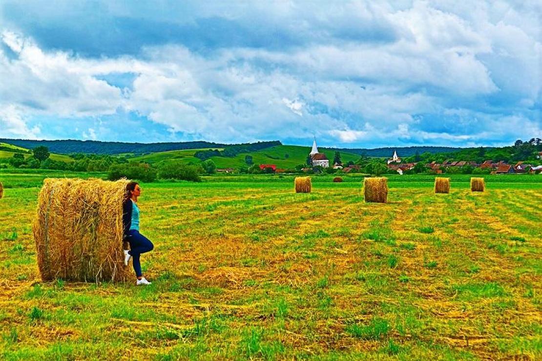
[[[0,137],[542,137],[539,1],[0,0]]]

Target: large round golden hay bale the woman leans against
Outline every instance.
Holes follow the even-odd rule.
[[[128,181],[46,179],[33,224],[43,281],[125,281],[122,200]]]

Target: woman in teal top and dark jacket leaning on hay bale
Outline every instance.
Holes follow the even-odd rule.
[[[143,234],[139,233],[139,207],[137,199],[141,195],[139,183],[130,182],[126,185],[126,194],[122,202],[122,226],[124,227],[124,242],[130,244],[130,251],[124,251],[124,264],[127,266],[130,258],[133,258],[136,285],[150,285],[151,283],[141,274],[139,256],[141,253],[152,251],[154,245]],[[125,247],[126,248],[126,247]]]

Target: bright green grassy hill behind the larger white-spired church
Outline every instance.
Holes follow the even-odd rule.
[[[201,160],[193,156],[201,149],[187,150],[171,150],[169,152],[152,153],[143,156],[132,157],[130,160],[147,162],[153,165],[171,160],[182,160],[186,163],[199,164]],[[294,168],[299,164],[305,163],[307,155],[311,152],[311,147],[300,146],[274,146],[250,153],[241,153],[235,157],[220,157],[214,156],[210,159],[215,162],[217,168],[238,168],[246,166],[244,158],[246,155],[251,155],[254,164],[274,164],[278,168]],[[330,165],[333,163],[334,150],[324,150],[324,153],[330,160]],[[341,160],[343,163],[348,161],[356,161],[359,155],[341,152]]]

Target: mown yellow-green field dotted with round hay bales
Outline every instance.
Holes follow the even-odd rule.
[[[31,234],[46,176],[0,170],[5,359],[540,359],[542,176],[210,176],[141,184],[153,284],[42,283]]]

